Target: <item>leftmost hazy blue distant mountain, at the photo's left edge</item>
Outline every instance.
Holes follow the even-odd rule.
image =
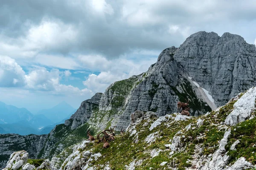
[[[33,116],[34,115],[25,108],[16,108],[15,106],[0,102],[0,124],[15,123],[23,120],[29,121]]]

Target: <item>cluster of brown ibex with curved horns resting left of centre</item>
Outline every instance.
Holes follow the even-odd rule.
[[[115,129],[115,127],[113,127],[113,128],[110,127],[110,129],[104,130],[97,135],[98,143],[103,142],[103,149],[108,148],[109,142],[115,140],[114,136],[116,136],[116,135],[114,133],[114,129]],[[109,133],[107,133],[107,132],[109,132]],[[125,133],[125,130],[121,129],[120,134],[123,135],[124,133]],[[102,137],[100,137],[101,134],[103,135]],[[87,137],[88,137],[88,140],[90,140],[90,141],[95,140],[95,138],[90,134],[90,130],[87,130]]]

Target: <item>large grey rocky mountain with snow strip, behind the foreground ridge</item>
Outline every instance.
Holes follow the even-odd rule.
[[[86,138],[88,128],[92,130],[92,134],[110,126],[116,126],[116,130],[127,128],[130,125],[130,115],[136,110],[152,111],[156,116],[164,116],[177,112],[178,101],[185,102],[189,99],[192,116],[201,116],[207,112],[209,114],[210,111],[235,97],[235,92],[237,94],[244,92],[255,85],[255,74],[252,75],[256,62],[255,51],[255,45],[247,44],[238,35],[225,33],[219,37],[215,33],[204,31],[192,34],[179,48],[171,47],[163,50],[157,62],[145,73],[114,82],[104,94],[97,93],[91,99],[82,102],[70,119],[64,124],[56,125],[47,137],[42,136],[38,144],[40,148],[33,149],[32,144],[28,142],[23,145],[23,150],[29,150],[31,158],[52,160],[55,169],[58,169],[73,153],[71,147]],[[218,119],[216,118],[214,122],[213,118],[216,115],[211,112],[211,122],[221,127],[225,120],[221,115],[226,116],[229,113],[218,109],[215,112],[218,112]],[[193,118],[193,121],[199,119]],[[183,123],[179,123],[177,129],[183,130]],[[207,130],[209,128],[211,127],[207,127]],[[202,132],[198,131],[198,133]],[[145,137],[149,134],[143,135]],[[21,150],[20,147],[10,147],[6,142],[14,138],[15,140],[10,142],[15,145],[17,140],[24,141],[27,136],[0,135],[0,158],[6,158],[8,154]],[[37,140],[39,136],[31,136],[30,140],[33,141],[33,138]],[[215,144],[216,142],[217,139]],[[152,147],[158,148],[158,145]],[[2,165],[7,161],[7,159],[0,160]]]

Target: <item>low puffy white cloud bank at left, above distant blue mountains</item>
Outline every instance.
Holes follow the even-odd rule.
[[[44,67],[31,68],[26,74],[20,65],[7,56],[0,56],[0,87],[23,87],[23,89],[32,91],[49,91],[49,94],[55,95],[79,95],[91,96],[93,92],[86,88],[80,90],[72,85],[63,85],[60,80],[71,76],[71,72],[64,72],[58,69],[48,71]]]

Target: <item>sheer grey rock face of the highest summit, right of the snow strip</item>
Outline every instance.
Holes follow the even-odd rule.
[[[174,58],[212,94],[217,106],[256,84],[256,47],[236,34],[192,34]]]

